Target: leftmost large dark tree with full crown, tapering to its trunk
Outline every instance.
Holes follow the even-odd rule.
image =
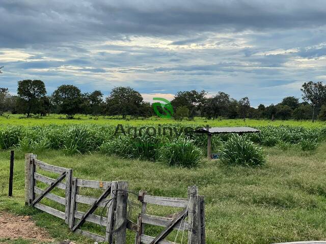
[[[45,84],[41,80],[18,81],[17,95],[21,100],[24,113],[30,117],[32,108],[39,106],[40,98],[46,95]]]

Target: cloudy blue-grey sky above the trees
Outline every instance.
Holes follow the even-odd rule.
[[[323,0],[0,0],[0,86],[219,91],[252,106],[326,82]]]

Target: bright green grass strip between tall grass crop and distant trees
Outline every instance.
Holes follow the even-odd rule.
[[[296,121],[296,120],[257,120],[257,119],[215,119],[208,120],[206,118],[196,117],[194,120],[188,121],[176,121],[173,118],[158,118],[156,116],[145,118],[145,119],[130,119],[125,120],[119,117],[112,116],[92,116],[92,115],[75,115],[74,119],[67,119],[64,114],[51,114],[45,117],[31,117],[26,118],[22,114],[5,114],[0,116],[0,125],[24,125],[24,126],[34,126],[34,125],[63,125],[63,124],[98,124],[98,125],[133,125],[142,126],[148,124],[193,124],[193,125],[210,125],[210,126],[267,126],[267,125],[290,125],[290,126],[304,126],[304,127],[321,127],[325,126],[326,122],[316,121],[312,123],[308,120]]]

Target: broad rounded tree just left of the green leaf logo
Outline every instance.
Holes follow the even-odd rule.
[[[106,112],[108,115],[139,116],[143,103],[142,95],[129,86],[114,87],[106,98]]]

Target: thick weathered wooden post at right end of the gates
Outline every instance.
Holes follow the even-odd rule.
[[[198,188],[188,187],[188,243],[201,244],[200,200]]]

